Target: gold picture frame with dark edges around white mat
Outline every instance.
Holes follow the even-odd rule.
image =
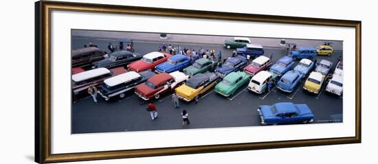
[[[271,141],[261,143],[234,143],[221,145],[197,145],[176,148],[151,148],[142,150],[115,150],[105,152],[80,152],[69,154],[51,153],[51,63],[50,32],[52,10],[96,12],[111,14],[135,14],[153,16],[175,16],[197,19],[221,19],[234,21],[254,21],[265,23],[288,23],[298,25],[326,25],[333,27],[355,28],[355,136],[329,139],[305,139],[296,141]],[[37,163],[55,163],[67,161],[86,161],[98,159],[121,159],[143,156],[165,156],[175,154],[194,154],[208,152],[227,152],[238,150],[260,150],[270,148],[290,148],[312,145],[331,145],[342,143],[361,143],[361,21],[335,19],[316,19],[294,16],[273,16],[260,14],[239,14],[208,12],[197,10],[177,10],[165,8],[145,8],[122,5],[102,5],[91,3],[69,3],[58,1],[38,1],[35,3],[36,14],[36,78],[35,78],[35,161]]]

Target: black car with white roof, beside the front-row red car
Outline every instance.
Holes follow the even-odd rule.
[[[129,71],[122,73],[104,80],[104,84],[99,87],[98,93],[100,93],[100,95],[107,101],[112,97],[123,98],[126,93],[133,91],[135,86],[146,82],[154,75],[156,75],[156,73],[153,71],[142,71],[139,73]]]

